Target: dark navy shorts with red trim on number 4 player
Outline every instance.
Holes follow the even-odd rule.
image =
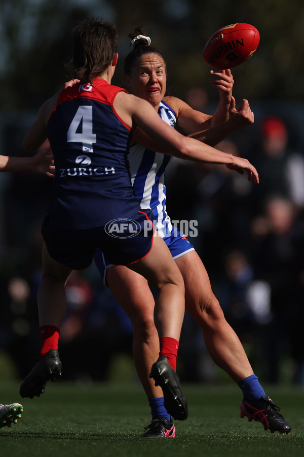
[[[46,217],[42,235],[50,256],[73,270],[83,270],[93,261],[95,250],[112,265],[129,265],[144,258],[153,243],[150,210],[138,211],[132,219],[115,219],[105,226],[84,230],[54,229]]]

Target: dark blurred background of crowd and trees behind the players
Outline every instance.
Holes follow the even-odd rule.
[[[304,5],[301,0],[2,2],[1,154],[25,155],[26,129],[66,80],[71,28],[88,15],[118,26],[120,64],[113,83],[123,86],[128,33],[142,25],[167,61],[169,92],[208,114],[216,109],[218,94],[208,82],[204,44],[230,23],[259,29],[257,52],[233,70],[237,104],[249,100],[255,123],[218,148],[248,158],[260,183],[222,166],[174,159],[167,172],[167,208],[172,219],[198,221],[198,236],[189,241],[256,374],[270,383],[304,386]],[[6,373],[23,378],[39,354],[40,226],[51,188],[46,177],[0,174],[0,379]],[[59,346],[64,379],[107,380],[115,357],[132,364],[131,323],[96,267],[74,272],[66,292]],[[85,365],[79,364],[80,354]],[[187,313],[178,364],[185,381],[226,380]],[[135,370],[132,376],[136,380]]]

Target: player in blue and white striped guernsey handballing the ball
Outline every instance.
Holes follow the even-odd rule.
[[[233,78],[230,70],[212,72],[211,82],[219,89],[220,102],[213,116],[191,109],[173,96],[165,96],[166,63],[163,56],[150,46],[150,38],[139,28],[132,39],[133,50],[125,60],[125,82],[131,93],[147,100],[159,116],[184,135],[194,135],[201,141],[215,145],[236,128],[253,122],[253,113],[246,100],[236,110],[232,97]],[[208,130],[206,130],[208,128]],[[279,408],[265,394],[248,361],[243,346],[224,318],[215,298],[208,274],[194,247],[177,228],[173,227],[166,211],[165,169],[171,156],[160,145],[145,139],[137,129],[133,135],[128,160],[131,180],[142,208],[153,211],[158,233],[164,238],[185,284],[185,307],[201,325],[207,349],[213,361],[238,383],[243,391],[241,417],[262,422],[271,432],[289,433],[291,428],[279,413]],[[145,149],[141,144],[146,144]],[[164,152],[164,151],[163,151]],[[113,296],[129,315],[134,333],[134,360],[139,378],[148,397],[152,421],[144,437],[172,437],[174,425],[166,411],[162,392],[148,378],[151,362],[158,353],[157,330],[153,325],[154,299],[142,276],[126,267],[108,265],[100,250],[95,254],[101,277]],[[118,286],[119,284],[119,286]],[[147,344],[148,342],[148,344]]]

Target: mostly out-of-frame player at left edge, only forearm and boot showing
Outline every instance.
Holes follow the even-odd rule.
[[[27,172],[31,171],[54,177],[52,170],[53,156],[51,148],[43,149],[37,152],[33,157],[10,157],[0,155],[0,172]],[[2,427],[11,427],[12,423],[17,423],[21,418],[23,406],[20,403],[11,403],[9,405],[0,404],[0,429]]]

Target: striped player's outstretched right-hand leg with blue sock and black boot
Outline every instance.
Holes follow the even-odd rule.
[[[191,251],[177,258],[176,264],[184,278],[186,309],[201,325],[209,354],[243,391],[241,417],[261,422],[264,430],[271,433],[289,434],[290,425],[279,413],[280,408],[265,395],[238,336],[226,322],[200,257]]]

